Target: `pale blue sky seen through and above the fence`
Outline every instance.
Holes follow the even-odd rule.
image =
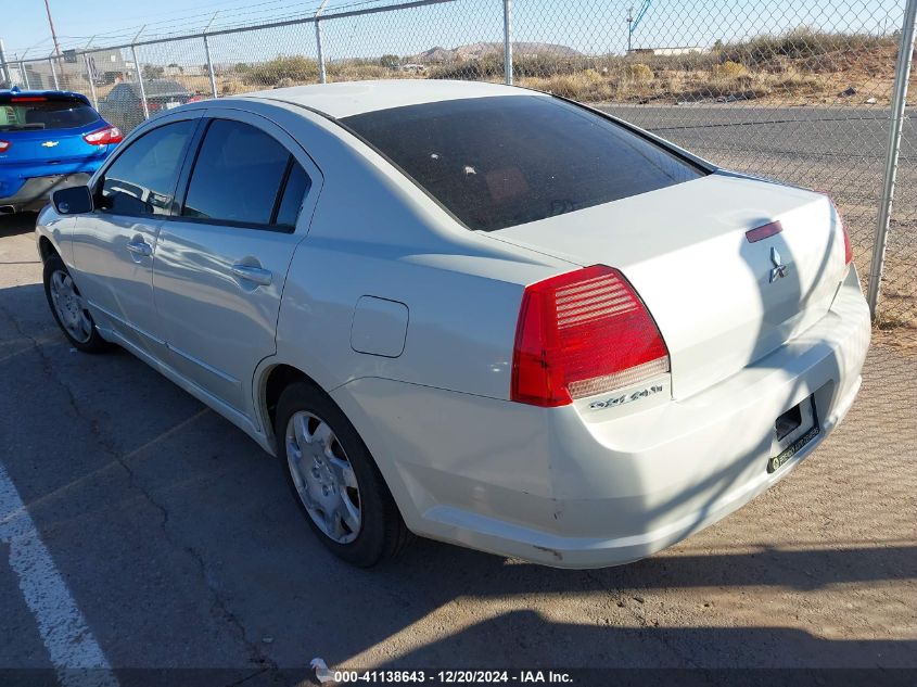
[[[130,42],[311,15],[320,0],[50,0],[62,48]],[[396,0],[328,0],[326,15]],[[639,0],[513,0],[513,39],[570,46],[589,54],[621,53],[625,17]],[[155,5],[156,10],[152,8]],[[709,47],[778,34],[800,26],[887,34],[902,23],[904,0],[651,0],[633,36],[634,47]],[[502,0],[456,0],[322,24],[329,59],[409,55],[443,46],[502,40]],[[47,56],[53,50],[43,0],[0,0],[0,39],[8,60]],[[315,56],[315,29],[297,25],[213,38],[215,62],[258,61],[280,54]],[[151,46],[142,62],[200,64],[200,40]]]

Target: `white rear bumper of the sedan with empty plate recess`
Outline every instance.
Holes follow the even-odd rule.
[[[850,409],[869,336],[851,270],[828,315],[791,343],[690,398],[613,420],[379,379],[332,395],[418,534],[598,568],[675,544],[791,472]],[[775,419],[812,395],[819,435],[768,473]]]

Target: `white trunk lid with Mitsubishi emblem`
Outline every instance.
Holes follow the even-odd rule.
[[[780,231],[751,242],[751,229]],[[845,273],[827,196],[713,174],[489,236],[620,269],[668,347],[675,398],[760,360],[819,320]]]

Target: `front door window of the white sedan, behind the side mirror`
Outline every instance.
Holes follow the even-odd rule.
[[[130,143],[105,170],[99,206],[116,215],[168,214],[195,124],[167,124]]]

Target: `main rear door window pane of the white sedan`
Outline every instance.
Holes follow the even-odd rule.
[[[181,214],[268,225],[289,162],[286,149],[260,129],[214,119],[198,153]]]

